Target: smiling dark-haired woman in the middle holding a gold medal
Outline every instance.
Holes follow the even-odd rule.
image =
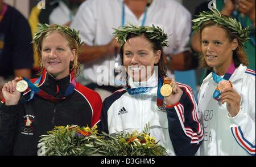
[[[149,122],[151,136],[170,155],[195,155],[203,141],[203,127],[191,88],[166,74],[163,47],[168,46],[167,34],[153,24],[126,25],[114,35],[121,45],[126,89],[104,100],[101,131],[141,132]],[[172,89],[165,92],[162,86]]]

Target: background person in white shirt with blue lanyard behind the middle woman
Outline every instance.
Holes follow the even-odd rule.
[[[191,32],[191,14],[174,0],[87,0],[80,6],[71,27],[80,31],[85,41],[79,61],[84,64],[84,84],[100,93],[102,99],[119,89],[119,44],[113,28],[126,23],[158,25],[172,37],[164,49],[166,66],[173,70],[188,70],[197,66],[187,47]],[[107,75],[102,73],[107,71]],[[169,76],[173,76],[171,71]]]

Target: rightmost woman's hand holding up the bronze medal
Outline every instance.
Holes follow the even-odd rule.
[[[231,117],[235,117],[240,110],[241,96],[233,87],[224,88],[221,92],[221,104],[226,102],[226,109]]]

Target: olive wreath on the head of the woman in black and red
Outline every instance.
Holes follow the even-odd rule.
[[[81,37],[79,37],[79,31],[76,31],[75,29],[69,28],[69,27],[63,27],[61,25],[48,25],[48,24],[42,24],[42,23],[38,23],[37,27],[36,27],[36,32],[32,38],[32,43],[36,44],[36,46],[38,46],[39,44],[39,38],[51,31],[51,30],[56,30],[56,31],[60,31],[60,32],[64,32],[67,35],[73,37],[76,42],[77,45],[80,47],[84,42],[81,42]]]

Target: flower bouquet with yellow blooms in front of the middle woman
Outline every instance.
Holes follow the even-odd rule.
[[[150,136],[149,123],[146,124],[144,131],[139,133],[121,132],[115,136],[104,134],[106,140],[97,140],[96,143],[101,145],[101,151],[106,155],[115,156],[163,156],[167,155],[166,148],[155,138]]]

